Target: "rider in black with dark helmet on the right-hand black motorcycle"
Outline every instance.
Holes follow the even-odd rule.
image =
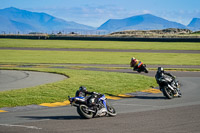
[[[164,75],[170,76],[170,77],[173,79],[173,81],[174,81],[175,78],[176,78],[174,75],[165,72],[163,67],[158,67],[157,73],[156,73],[156,75],[155,75],[155,78],[156,78],[157,83],[158,83],[158,80],[157,80],[157,79],[160,79],[160,78],[164,77]],[[178,90],[178,94],[177,94],[177,95],[178,95],[178,96],[181,96],[180,89],[177,88],[177,90]]]

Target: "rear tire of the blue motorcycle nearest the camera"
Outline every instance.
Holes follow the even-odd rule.
[[[77,107],[77,112],[81,116],[81,118],[84,119],[91,119],[94,116],[93,112],[87,111],[88,106],[81,104],[80,106]]]

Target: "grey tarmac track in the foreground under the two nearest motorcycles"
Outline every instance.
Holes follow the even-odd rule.
[[[154,71],[150,75],[154,75]],[[178,76],[182,98],[167,100],[161,93],[135,93],[134,98],[109,100],[117,110],[116,117],[83,120],[76,109],[66,107],[16,107],[0,113],[0,133],[5,132],[76,132],[76,133],[169,133],[200,131],[200,76],[187,72]],[[183,72],[182,72],[183,73]],[[189,75],[186,76],[186,75]],[[185,77],[183,77],[185,76]]]

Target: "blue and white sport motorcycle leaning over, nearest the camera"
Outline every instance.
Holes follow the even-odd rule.
[[[69,97],[69,96],[68,96]],[[117,113],[115,109],[108,105],[105,95],[101,94],[98,98],[96,107],[90,107],[87,103],[88,99],[91,96],[87,97],[69,97],[70,104],[77,107],[77,112],[81,118],[91,119],[94,117],[101,116],[116,116]]]

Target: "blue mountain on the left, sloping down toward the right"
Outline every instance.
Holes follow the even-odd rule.
[[[0,9],[0,32],[58,32],[64,30],[94,30],[91,26],[65,21],[46,13],[30,12],[14,7]]]

